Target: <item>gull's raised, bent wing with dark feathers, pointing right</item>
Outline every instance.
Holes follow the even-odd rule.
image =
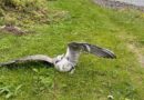
[[[78,43],[78,42],[71,42],[68,44],[68,51],[65,57],[70,59],[72,62],[76,62],[81,51],[85,51],[103,58],[111,58],[111,59],[116,58],[116,56],[107,49],[90,43]]]

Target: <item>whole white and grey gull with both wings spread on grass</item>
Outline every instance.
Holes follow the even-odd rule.
[[[73,72],[79,61],[79,57],[82,52],[88,52],[97,57],[115,59],[116,56],[109,49],[101,48],[99,46],[82,43],[82,42],[70,42],[64,54],[59,54],[55,58],[50,58],[44,54],[28,56],[24,58],[11,60],[8,62],[0,63],[2,66],[10,66],[13,63],[21,63],[27,61],[44,61],[48,62],[60,72]]]

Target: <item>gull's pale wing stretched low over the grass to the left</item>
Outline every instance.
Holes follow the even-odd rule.
[[[28,56],[28,57],[20,58],[20,59],[17,59],[17,60],[11,60],[11,61],[8,61],[8,62],[0,63],[0,67],[1,66],[9,66],[9,64],[12,64],[12,63],[28,62],[28,61],[44,61],[44,62],[48,62],[50,64],[53,64],[52,58],[50,58],[48,56],[43,56],[43,54],[35,54],[35,56]]]

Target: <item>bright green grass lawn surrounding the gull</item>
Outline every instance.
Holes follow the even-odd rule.
[[[141,12],[104,9],[91,0],[56,0],[48,7],[69,11],[70,18],[35,24],[37,33],[22,37],[0,33],[1,62],[37,53],[54,57],[71,41],[109,48],[117,59],[82,54],[74,74],[34,62],[0,68],[0,88],[7,87],[1,100],[10,93],[14,100],[107,100],[109,94],[114,100],[143,100],[144,68],[127,48],[130,42],[144,44]]]

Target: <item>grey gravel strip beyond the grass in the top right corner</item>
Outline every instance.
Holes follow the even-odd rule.
[[[134,4],[128,4],[125,2],[112,1],[112,0],[93,0],[93,1],[105,8],[112,8],[112,9],[132,8],[144,12],[144,7],[141,6],[134,6]]]

